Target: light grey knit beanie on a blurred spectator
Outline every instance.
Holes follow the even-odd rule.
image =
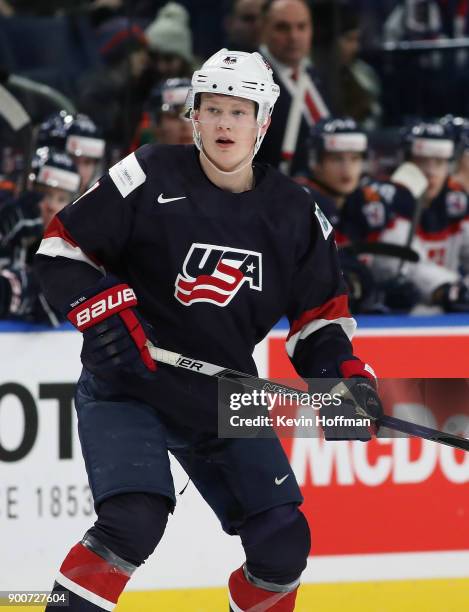
[[[145,35],[152,51],[177,55],[189,63],[193,61],[189,13],[181,4],[165,4],[145,30]]]

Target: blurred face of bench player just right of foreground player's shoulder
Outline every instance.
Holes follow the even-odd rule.
[[[358,187],[363,155],[352,151],[324,153],[314,166],[315,177],[332,191],[349,195]]]

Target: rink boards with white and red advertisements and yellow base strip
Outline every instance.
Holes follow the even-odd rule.
[[[0,331],[0,536],[8,551],[0,590],[47,589],[94,520],[72,404],[81,339],[8,324]],[[257,348],[261,374],[292,375],[286,333],[280,324]],[[366,319],[355,346],[383,377],[469,375],[464,317]],[[463,608],[469,455],[402,439],[321,444],[284,444],[313,533],[297,608],[338,610],[347,602],[347,610],[406,610],[412,601],[414,610]],[[180,491],[186,478],[177,465],[174,479]],[[129,585],[139,593],[118,609],[224,609],[223,586],[241,562],[239,542],[220,531],[190,485],[158,554]]]

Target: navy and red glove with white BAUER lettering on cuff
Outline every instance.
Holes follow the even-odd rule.
[[[69,304],[66,316],[83,332],[82,363],[96,376],[114,378],[123,371],[145,376],[156,370],[146,345],[148,338],[154,341],[153,330],[135,306],[133,289],[112,276]]]

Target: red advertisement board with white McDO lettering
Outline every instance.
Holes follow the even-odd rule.
[[[293,378],[284,337],[268,342],[269,377]],[[379,377],[469,377],[469,335],[422,329],[399,336],[383,329],[358,337],[354,345]],[[417,384],[401,381],[386,411],[404,417],[410,411],[425,424],[464,433],[469,406],[448,406],[453,383],[442,391],[441,385],[436,390],[420,381],[416,393]],[[469,550],[469,453],[406,438],[283,443],[302,486],[315,556]]]

